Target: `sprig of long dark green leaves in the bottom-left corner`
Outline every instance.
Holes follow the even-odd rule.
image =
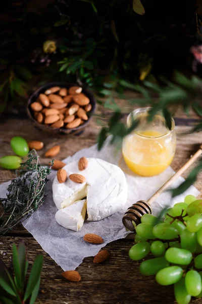
[[[25,245],[13,244],[14,277],[0,259],[0,301],[3,304],[34,304],[40,285],[43,256],[37,255],[27,280],[28,260]]]

